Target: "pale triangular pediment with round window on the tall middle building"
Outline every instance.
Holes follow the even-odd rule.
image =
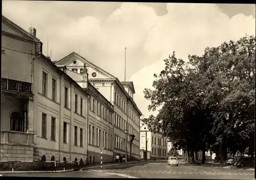
[[[84,64],[86,64],[86,68],[88,70],[89,79],[116,79],[113,75],[110,73],[104,71],[99,66],[93,64],[86,58],[83,58],[82,56],[71,53],[68,56],[60,59],[55,63],[57,66],[67,66],[67,69],[72,70],[75,69],[78,73],[81,69],[84,68]]]

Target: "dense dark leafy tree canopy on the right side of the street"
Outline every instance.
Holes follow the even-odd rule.
[[[144,89],[148,110],[160,108],[144,119],[152,130],[161,129],[174,149],[190,154],[212,150],[222,161],[227,152],[253,155],[255,37],[207,47],[202,56],[188,55],[188,62],[173,52],[164,62],[154,89]]]

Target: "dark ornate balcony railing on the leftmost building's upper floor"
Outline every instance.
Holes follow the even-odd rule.
[[[19,93],[32,93],[32,83],[2,78],[1,89]]]

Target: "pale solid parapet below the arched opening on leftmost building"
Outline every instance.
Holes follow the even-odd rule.
[[[34,144],[34,134],[12,130],[1,130],[1,144]]]

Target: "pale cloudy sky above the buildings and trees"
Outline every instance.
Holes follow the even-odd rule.
[[[134,82],[144,117],[157,111],[147,110],[143,89],[152,88],[153,74],[173,51],[186,61],[206,47],[255,35],[255,5],[3,1],[2,10],[23,29],[34,27],[52,60],[80,53],[120,81],[126,47],[126,81]]]

